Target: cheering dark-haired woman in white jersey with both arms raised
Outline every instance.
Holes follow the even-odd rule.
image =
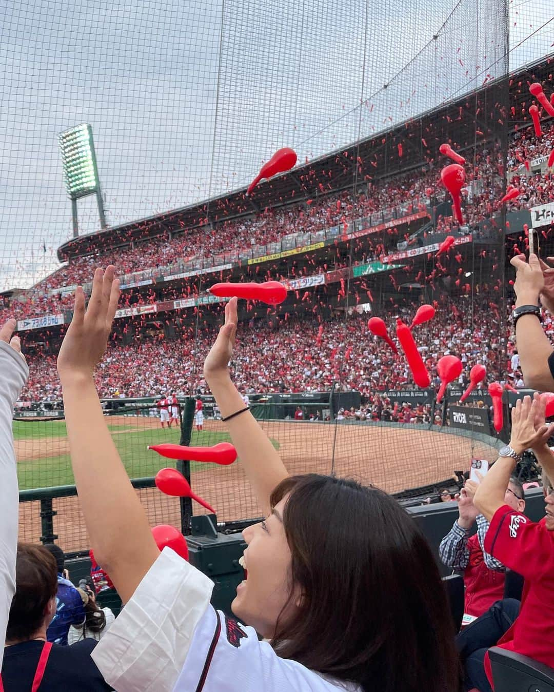
[[[93,381],[118,295],[111,266],[95,272],[86,311],[77,289],[58,357],[86,527],[126,603],[93,653],[105,679],[118,692],[460,689],[445,590],[425,538],[380,490],[287,475],[228,374],[234,298],[204,374],[267,514],[243,531],[246,579],[232,610],[246,626],[212,608],[207,576],[169,548],[158,552]]]

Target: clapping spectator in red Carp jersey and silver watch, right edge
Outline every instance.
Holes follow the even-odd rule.
[[[539,522],[530,521],[504,499],[517,459],[528,448],[533,448],[545,475],[554,475],[554,457],[546,445],[554,425],[544,425],[545,408],[546,401],[538,394],[533,402],[530,397],[517,401],[510,444],[500,450],[474,497],[477,509],[490,522],[486,552],[525,579],[521,610],[513,623],[502,615],[495,617],[491,612],[499,610],[495,604],[459,635],[468,685],[481,692],[493,689],[488,648],[495,644],[554,666],[554,491],[550,483],[545,486],[546,516]]]

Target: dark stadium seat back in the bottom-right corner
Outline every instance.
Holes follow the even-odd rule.
[[[554,668],[498,646],[488,655],[497,692],[554,692]]]

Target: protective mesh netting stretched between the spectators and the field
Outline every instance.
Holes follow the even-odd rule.
[[[486,389],[457,402],[476,363],[487,383],[521,379],[508,262],[554,200],[553,118],[542,112],[537,136],[528,111],[531,82],[554,90],[552,14],[546,0],[10,3],[0,249],[2,313],[19,320],[31,371],[15,421],[21,489],[73,483],[55,356],[73,287],[88,291],[109,262],[123,291],[97,385],[131,477],[173,463],[147,444],[228,439],[202,375],[223,315],[207,288],[221,280],[288,288],[277,307],[240,302],[231,372],[291,473],[436,495],[472,457],[495,457]],[[95,197],[82,197],[72,239],[58,135],[81,123],[108,228],[97,233]],[[440,181],[444,143],[466,160],[461,222]],[[284,146],[293,172],[247,197]],[[522,194],[500,204],[508,183]],[[554,255],[548,223],[542,255]],[[423,389],[367,327],[378,316],[394,338],[421,304],[435,309],[414,327]],[[463,372],[446,406],[436,363],[447,354]],[[181,412],[201,395],[201,430],[190,417],[183,430],[160,424],[173,394]],[[219,521],[259,515],[240,460],[193,464],[190,480]],[[183,524],[178,500],[137,491],[153,525]],[[48,493],[28,495],[21,535],[87,547],[77,498],[51,494],[52,525]]]

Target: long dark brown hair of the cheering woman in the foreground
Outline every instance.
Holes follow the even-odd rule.
[[[272,507],[287,493],[283,524],[302,598],[292,621],[277,621],[276,652],[367,691],[461,689],[441,576],[405,510],[331,476],[286,478]]]

